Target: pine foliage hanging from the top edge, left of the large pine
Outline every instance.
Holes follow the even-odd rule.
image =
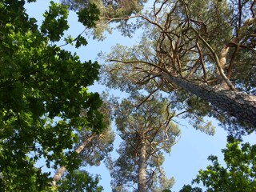
[[[62,4],[69,6],[70,10],[81,10],[84,7],[94,3],[100,10],[99,20],[96,26],[88,34],[92,34],[94,38],[105,38],[104,32],[111,32],[113,28],[118,28],[122,34],[131,36],[138,26],[127,22],[126,18],[134,16],[141,12],[147,0],[61,0]],[[111,26],[110,23],[118,24]]]

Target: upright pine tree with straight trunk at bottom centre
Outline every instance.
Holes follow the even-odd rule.
[[[167,178],[162,168],[163,151],[170,153],[180,130],[172,122],[174,114],[164,98],[155,94],[144,100],[145,96],[133,95],[114,106],[115,123],[123,140],[119,158],[108,164],[114,191],[126,191],[126,187],[162,191],[174,184],[174,178]]]

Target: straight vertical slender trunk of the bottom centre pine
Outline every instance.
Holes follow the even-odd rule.
[[[146,145],[142,142],[138,159],[138,191],[146,192]]]

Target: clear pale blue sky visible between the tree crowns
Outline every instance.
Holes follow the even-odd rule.
[[[42,20],[42,13],[47,9],[49,4],[50,1],[47,0],[38,0],[35,3],[30,3],[30,5],[26,6],[27,13],[40,21]],[[84,30],[84,27],[77,22],[76,14],[72,12],[70,13],[69,23],[70,30],[67,34],[76,37]],[[100,51],[107,53],[110,51],[111,46],[114,46],[116,43],[131,46],[136,43],[136,38],[123,38],[118,31],[114,31],[113,34],[108,34],[106,40],[103,42],[97,42],[92,39],[89,39],[88,42],[86,47],[81,47],[79,50],[76,50],[74,46],[67,46],[66,49],[77,52],[82,61],[89,59],[94,61]],[[99,93],[102,92],[103,89],[104,87],[99,85],[90,87],[91,91],[97,91]],[[184,125],[180,126],[182,130],[181,138],[178,143],[173,146],[171,153],[166,155],[166,161],[164,162],[167,176],[175,178],[173,191],[180,190],[184,184],[190,184],[198,173],[198,170],[205,169],[206,166],[210,164],[210,162],[207,161],[210,154],[217,155],[219,159],[222,159],[221,150],[226,146],[226,131],[218,127],[217,122],[214,122],[214,125],[216,125],[216,134],[214,136],[209,136],[201,133],[199,130],[194,130],[188,122],[182,119],[180,122]],[[254,135],[250,135],[244,138],[244,140],[250,143],[255,143],[256,141]],[[118,142],[115,143],[115,146],[117,146]],[[104,191],[111,191],[110,174],[104,165],[86,167],[86,170],[92,174],[100,174],[102,178],[100,185],[104,187]]]

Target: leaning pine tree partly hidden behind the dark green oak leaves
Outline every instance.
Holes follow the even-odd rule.
[[[99,111],[104,114],[102,119],[104,125],[107,127],[102,130],[100,133],[95,133],[87,129],[80,130],[79,133],[79,142],[76,143],[76,154],[81,160],[81,166],[99,166],[104,158],[107,158],[109,153],[113,150],[114,142],[114,132],[111,130],[110,122],[110,104],[106,101],[106,94],[102,94],[102,100],[104,101],[102,106],[99,108]],[[87,111],[83,109],[81,115],[86,116]],[[71,172],[68,174],[69,177],[76,177],[77,174],[85,174],[86,177],[90,178],[90,175],[86,171],[76,170],[77,174]],[[51,182],[52,186],[57,186],[58,182],[62,179],[66,172],[66,166],[60,166],[56,173],[54,174],[53,180]],[[63,178],[66,179],[66,178]],[[97,178],[98,179],[98,178]],[[89,179],[90,180],[90,179]],[[68,183],[69,180],[66,180],[66,185],[73,185]],[[96,183],[97,184],[97,183]],[[58,188],[58,187],[57,187]]]

